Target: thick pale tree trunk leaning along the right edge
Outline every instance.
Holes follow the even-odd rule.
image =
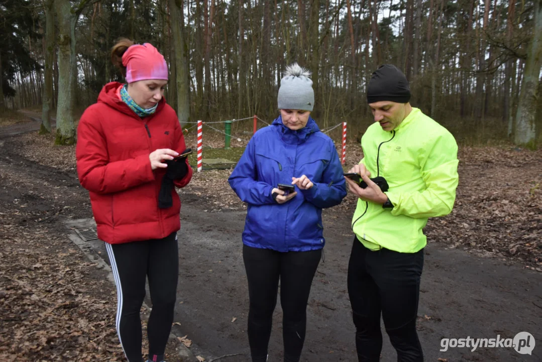
[[[534,1],[533,39],[528,48],[527,61],[518,111],[515,116],[514,143],[522,147],[536,148],[535,116],[538,106],[540,66],[542,65],[542,0]]]

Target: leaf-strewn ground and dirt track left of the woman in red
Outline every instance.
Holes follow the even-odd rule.
[[[114,285],[67,238],[66,220],[89,217],[74,170],[30,161],[0,139],[1,360],[123,360]],[[167,345],[170,361],[177,348]]]

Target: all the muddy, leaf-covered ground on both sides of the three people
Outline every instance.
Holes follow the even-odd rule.
[[[31,124],[30,126],[35,126]],[[17,129],[24,130],[20,124]],[[11,129],[12,130],[12,129]],[[121,360],[115,290],[67,237],[66,221],[92,218],[73,148],[34,132],[0,130],[0,356],[20,361]],[[15,132],[15,133],[18,133]],[[356,158],[353,156],[352,158]],[[427,233],[418,331],[428,361],[542,360],[542,154],[462,148],[454,212]],[[241,256],[244,211],[228,170],[195,175],[179,194],[180,270],[176,324],[195,355],[248,361],[248,293]],[[354,200],[325,211],[325,261],[307,307],[302,361],[355,361],[346,292]],[[89,244],[106,258],[101,242]],[[106,260],[107,261],[107,260]],[[150,301],[149,301],[150,304]],[[282,358],[280,302],[269,360]],[[513,348],[441,349],[442,338],[531,333],[533,354]],[[175,344],[168,346],[175,361]],[[383,361],[395,360],[384,334]]]

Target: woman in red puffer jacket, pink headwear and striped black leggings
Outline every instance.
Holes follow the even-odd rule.
[[[177,293],[180,200],[192,177],[182,129],[163,98],[167,65],[152,45],[122,39],[112,61],[127,84],[104,86],[78,126],[77,170],[117,284],[117,332],[141,362],[140,308],[149,278],[149,360],[162,361]]]

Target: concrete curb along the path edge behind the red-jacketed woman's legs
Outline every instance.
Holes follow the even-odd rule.
[[[89,261],[96,263],[97,269],[104,269],[107,272],[107,279],[115,285],[115,280],[113,277],[113,271],[111,270],[111,266],[107,264],[104,259],[102,259],[93,249],[91,246],[89,246],[84,240],[82,240],[75,231],[73,231],[73,227],[78,227],[81,224],[88,224],[88,219],[79,219],[79,220],[69,220],[66,223],[64,223],[69,230],[68,238],[79,247],[79,249],[85,254],[85,256],[88,258]],[[149,317],[149,314],[151,312],[151,307],[147,306],[145,302],[143,302],[143,307],[146,309],[146,312],[143,314],[144,319],[146,320]],[[182,342],[179,341],[178,336],[174,334],[173,332],[170,333],[169,336],[170,341],[175,341],[175,344],[177,346],[178,351],[178,361],[179,362],[198,362],[198,359],[196,356],[190,351],[190,348],[186,347]]]

